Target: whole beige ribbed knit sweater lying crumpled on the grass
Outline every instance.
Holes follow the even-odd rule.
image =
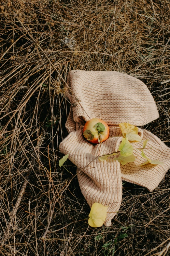
[[[152,191],[158,186],[170,168],[170,148],[151,132],[139,128],[141,142],[132,143],[141,148],[143,141],[149,139],[145,154],[152,160],[159,159],[163,165],[146,164],[140,150],[134,150],[135,162],[121,165],[112,156],[102,162],[98,156],[100,144],[92,145],[82,136],[85,121],[91,118],[103,119],[110,129],[109,138],[102,143],[100,154],[117,151],[122,134],[118,126],[128,122],[135,126],[145,125],[159,117],[159,113],[147,86],[140,80],[114,71],[69,72],[67,83],[70,91],[67,97],[72,103],[66,128],[69,135],[59,145],[60,151],[78,167],[80,189],[90,207],[98,202],[109,206],[105,226],[120,208],[122,199],[122,180],[146,187]],[[83,168],[82,171],[80,171]]]

